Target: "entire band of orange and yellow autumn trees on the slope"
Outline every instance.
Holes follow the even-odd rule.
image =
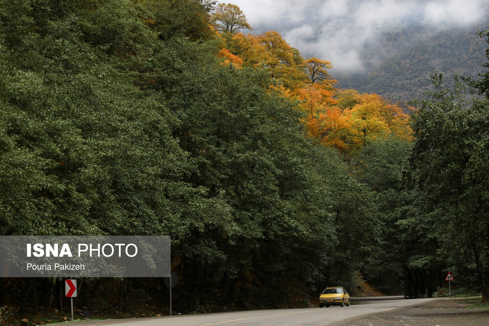
[[[328,72],[333,65],[319,58],[304,59],[274,31],[260,35],[223,33],[223,64],[266,67],[273,78],[268,92],[298,101],[304,112],[306,135],[347,156],[356,155],[368,141],[395,134],[411,139],[408,114],[378,94],[338,90]]]

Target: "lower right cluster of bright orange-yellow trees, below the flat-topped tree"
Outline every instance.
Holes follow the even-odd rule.
[[[407,124],[409,115],[380,95],[343,92],[350,103],[343,109],[343,95],[337,99],[331,92],[311,86],[302,89],[303,103],[299,108],[307,113],[304,119],[307,136],[321,144],[352,156],[372,139],[391,134],[411,139],[412,130]]]

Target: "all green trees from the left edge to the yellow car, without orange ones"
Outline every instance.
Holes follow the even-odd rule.
[[[187,311],[353,284],[372,195],[267,69],[193,41],[210,5],[0,2],[0,234],[170,235]]]

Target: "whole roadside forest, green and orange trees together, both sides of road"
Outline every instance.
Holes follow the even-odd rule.
[[[375,94],[315,83],[304,68],[324,61],[219,29],[212,10],[0,1],[0,235],[170,235],[183,313],[309,306],[364,280],[432,294],[447,270],[487,300],[488,73],[453,91],[434,74],[408,128]],[[348,133],[324,142],[314,123],[333,116]],[[3,279],[0,305],[62,310],[62,283]],[[86,279],[77,300],[134,313],[167,298],[161,279]]]

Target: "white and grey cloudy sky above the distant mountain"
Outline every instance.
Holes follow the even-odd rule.
[[[382,29],[416,19],[434,29],[467,26],[488,17],[488,0],[227,0],[253,33],[275,30],[305,57],[330,60],[337,70],[361,69],[361,48]],[[247,31],[244,31],[245,33]],[[474,31],[475,32],[475,31]]]

